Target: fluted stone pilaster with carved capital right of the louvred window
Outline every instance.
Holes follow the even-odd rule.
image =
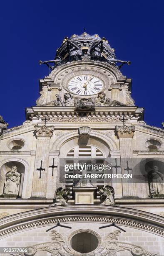
[[[134,126],[116,126],[117,136],[119,137],[121,172],[124,174],[132,174],[132,179],[122,179],[123,197],[137,197],[136,183],[133,178],[133,148],[132,138],[134,135]]]

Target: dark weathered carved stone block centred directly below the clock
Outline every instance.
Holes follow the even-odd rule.
[[[75,103],[76,110],[80,110],[80,111],[94,110],[95,98],[80,99],[80,100],[76,99],[74,103]]]

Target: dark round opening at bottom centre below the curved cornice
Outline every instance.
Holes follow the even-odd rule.
[[[99,241],[92,233],[80,232],[72,237],[70,244],[79,253],[89,253],[97,248]]]

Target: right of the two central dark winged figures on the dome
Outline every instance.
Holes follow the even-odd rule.
[[[91,59],[99,59],[101,57],[101,53],[104,50],[103,41],[94,40],[91,46],[88,49],[87,54],[91,55]]]

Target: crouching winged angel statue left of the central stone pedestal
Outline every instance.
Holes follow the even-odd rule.
[[[67,205],[67,202],[69,200],[68,195],[70,195],[71,190],[69,188],[63,189],[62,187],[59,187],[55,191],[55,202],[51,204],[50,206],[54,205]]]

